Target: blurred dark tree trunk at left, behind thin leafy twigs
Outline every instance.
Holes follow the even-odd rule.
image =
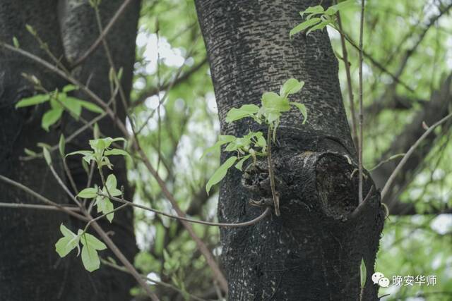
[[[106,25],[122,1],[102,2],[100,11]],[[131,89],[138,16],[139,1],[132,1],[108,36],[116,67],[124,68],[122,82],[126,95]],[[25,30],[25,24],[32,25],[49,44],[52,53],[62,58],[63,62],[81,56],[99,35],[93,8],[88,1],[1,1],[0,39],[10,42],[16,36],[21,48],[48,60],[32,35]],[[69,63],[66,65],[69,66]],[[0,173],[55,202],[67,203],[66,195],[53,179],[44,160],[20,161],[19,156],[23,154],[24,147],[36,149],[37,142],[54,145],[60,133],[67,137],[81,123],[64,116],[61,123],[47,133],[40,127],[42,113],[48,109],[47,105],[14,109],[16,102],[34,93],[32,85],[20,73],[35,75],[47,90],[67,84],[42,66],[10,51],[0,50]],[[78,80],[89,82],[89,87],[106,100],[110,95],[108,73],[109,65],[102,45],[73,70]],[[86,99],[83,94],[75,95]],[[119,101],[117,103],[119,118],[124,119],[124,109]],[[83,112],[83,117],[89,120],[93,115]],[[99,125],[107,136],[121,135],[107,118]],[[66,145],[66,151],[88,149],[90,137],[92,130],[86,130],[78,139]],[[59,162],[57,154],[54,162]],[[69,161],[78,188],[83,188],[87,177],[80,163],[80,157],[72,157]],[[130,196],[124,161],[112,163],[115,164],[114,173],[119,185],[126,186],[126,195]],[[60,164],[56,163],[55,166],[64,176]],[[94,182],[100,184],[99,178],[95,177]],[[0,192],[2,202],[37,203],[32,197],[4,183],[0,183]],[[129,259],[133,259],[136,252],[132,218],[132,212],[128,210],[115,214],[111,226],[101,223]],[[83,269],[81,258],[76,257],[75,252],[59,259],[54,244],[61,236],[60,223],[65,223],[73,231],[83,227],[78,221],[54,211],[0,209],[0,300],[129,300],[129,289],[134,281],[126,274],[105,267],[89,273]],[[101,252],[101,255],[111,256],[108,252]]]

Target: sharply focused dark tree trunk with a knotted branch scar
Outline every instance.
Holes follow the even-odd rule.
[[[308,123],[295,110],[283,116],[273,147],[281,216],[248,228],[222,229],[222,260],[230,300],[357,300],[359,264],[367,263],[363,300],[376,300],[371,283],[383,227],[379,194],[357,207],[356,154],[338,82],[338,62],[326,32],[289,39],[299,11],[318,1],[198,0],[222,134],[256,130],[252,121],[225,123],[242,104],[279,90],[288,78],[306,85],[292,101],[303,102]],[[227,154],[223,154],[222,160]],[[349,159],[352,161],[349,162]],[[265,161],[242,176],[230,171],[220,187],[220,221],[254,218],[250,198],[271,196]],[[364,183],[364,195],[371,185]]]

